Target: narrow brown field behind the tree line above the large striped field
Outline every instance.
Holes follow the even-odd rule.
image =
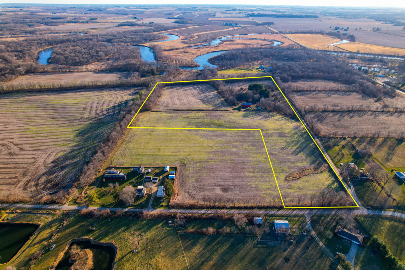
[[[19,83],[73,83],[91,81],[116,81],[127,79],[132,72],[42,72],[31,73],[13,81],[10,84]]]

